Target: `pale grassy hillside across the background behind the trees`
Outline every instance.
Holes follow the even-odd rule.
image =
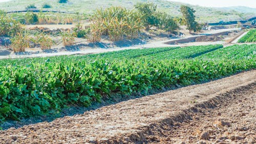
[[[35,4],[39,9],[42,9],[42,4],[50,4],[52,8],[49,10],[59,10],[59,11],[70,11],[70,12],[81,12],[90,14],[97,8],[105,8],[110,6],[124,6],[126,8],[132,8],[137,2],[148,2],[147,0],[70,0],[67,4],[58,4],[57,0],[11,0],[10,2],[3,2],[0,5],[0,9],[5,11],[15,11],[15,10],[25,10],[25,7],[29,4]],[[169,2],[164,0],[151,0],[149,2],[154,2],[158,5],[159,11],[168,12],[170,15],[179,16],[179,7],[183,3]],[[190,5],[191,6],[191,5]],[[253,17],[256,15],[256,9],[247,7],[230,7],[230,8],[207,8],[201,6],[191,6],[197,12],[198,20],[201,22],[217,22],[220,20],[241,20],[248,17]]]

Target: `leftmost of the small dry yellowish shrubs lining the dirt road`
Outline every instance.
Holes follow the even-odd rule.
[[[17,33],[11,38],[11,47],[14,53],[25,52],[25,49],[29,47],[30,37],[23,33]]]

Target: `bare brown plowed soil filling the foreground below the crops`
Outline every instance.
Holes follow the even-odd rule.
[[[255,94],[252,70],[51,123],[0,131],[0,143],[196,143],[201,138],[253,143]]]

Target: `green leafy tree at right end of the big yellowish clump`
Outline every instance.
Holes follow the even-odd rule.
[[[142,15],[144,26],[146,29],[150,29],[151,25],[158,25],[158,20],[156,17],[157,5],[154,3],[137,3],[135,8]]]

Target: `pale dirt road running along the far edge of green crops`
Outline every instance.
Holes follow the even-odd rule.
[[[235,31],[238,29],[222,29],[222,30],[214,30],[214,31],[205,31],[207,34],[217,34],[222,32]],[[88,42],[77,42],[76,45],[69,48],[66,47],[53,47],[52,52],[42,52],[41,50],[26,50],[24,54],[14,54],[11,51],[7,51],[6,49],[0,49],[0,59],[9,59],[9,58],[33,58],[33,57],[52,57],[52,56],[61,56],[61,55],[86,55],[86,54],[97,54],[97,53],[105,53],[105,52],[113,52],[127,49],[146,49],[152,47],[175,47],[175,46],[194,46],[194,45],[209,45],[209,44],[224,44],[224,41],[215,41],[215,42],[187,42],[181,44],[166,44],[170,41],[175,41],[179,39],[187,39],[191,37],[199,37],[202,35],[194,35],[194,36],[185,36],[178,39],[168,39],[168,40],[160,40],[160,41],[144,41],[136,42],[135,44],[131,43],[122,43],[115,45],[114,43],[88,43]],[[233,43],[232,43],[233,44]],[[230,44],[228,44],[230,45]],[[1,47],[0,47],[1,48]]]

